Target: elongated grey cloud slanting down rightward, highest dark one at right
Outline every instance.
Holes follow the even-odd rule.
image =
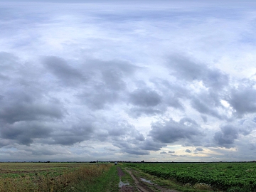
[[[229,77],[216,68],[196,63],[182,55],[172,55],[168,63],[171,75],[188,81],[202,81],[206,87],[220,90],[229,84]]]

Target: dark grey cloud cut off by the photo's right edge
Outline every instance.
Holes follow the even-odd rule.
[[[228,102],[233,107],[234,114],[242,117],[247,113],[256,112],[256,90],[254,87],[240,85],[230,92]]]

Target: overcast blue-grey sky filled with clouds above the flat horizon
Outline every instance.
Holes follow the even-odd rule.
[[[255,1],[0,1],[0,161],[256,160]]]

